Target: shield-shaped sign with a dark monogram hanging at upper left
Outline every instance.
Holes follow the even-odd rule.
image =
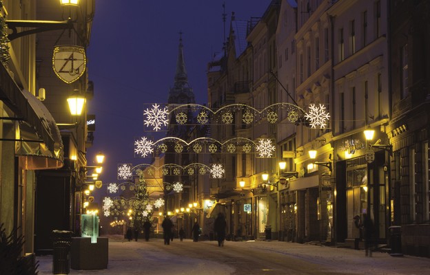
[[[87,58],[83,47],[74,45],[55,46],[52,54],[52,69],[65,83],[78,80],[87,66]]]

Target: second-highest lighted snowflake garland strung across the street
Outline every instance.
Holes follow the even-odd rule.
[[[140,141],[146,142],[147,138],[141,137]],[[139,155],[136,155],[138,149],[134,148],[135,157],[146,157],[154,151],[154,148],[158,148],[161,153],[166,153],[171,148],[176,153],[236,153],[242,149],[244,153],[256,153],[256,157],[269,158],[275,157],[276,148],[273,138],[258,138],[254,142],[246,137],[234,137],[225,142],[219,142],[212,137],[198,137],[190,142],[180,137],[163,137],[156,142],[150,141],[141,148],[143,147],[146,151],[142,151]]]

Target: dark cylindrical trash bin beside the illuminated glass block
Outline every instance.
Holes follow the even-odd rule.
[[[70,272],[70,243],[71,231],[53,230],[54,256],[52,259],[52,274],[69,274]]]

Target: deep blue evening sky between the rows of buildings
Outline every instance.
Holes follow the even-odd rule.
[[[207,102],[207,63],[223,47],[223,3],[228,35],[236,19],[261,17],[270,0],[98,0],[88,47],[88,72],[94,98],[88,113],[96,114],[94,155],[106,155],[103,185],[117,182],[117,164],[146,163],[134,158],[134,138],[143,131],[147,103],[165,103],[174,83],[178,32],[183,32],[185,66],[196,103]]]

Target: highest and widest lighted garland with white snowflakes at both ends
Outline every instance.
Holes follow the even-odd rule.
[[[147,131],[165,131],[172,118],[178,124],[187,124],[196,118],[198,124],[233,124],[234,118],[241,118],[240,123],[252,124],[254,122],[278,122],[278,113],[287,111],[287,120],[291,123],[308,120],[312,128],[325,128],[329,113],[326,112],[323,104],[309,104],[309,113],[295,104],[279,102],[265,107],[258,111],[247,104],[228,104],[216,111],[201,104],[168,104],[163,107],[161,104],[150,104],[150,107],[143,111],[143,124]],[[236,116],[236,113],[238,114]],[[189,117],[190,116],[190,117]]]

